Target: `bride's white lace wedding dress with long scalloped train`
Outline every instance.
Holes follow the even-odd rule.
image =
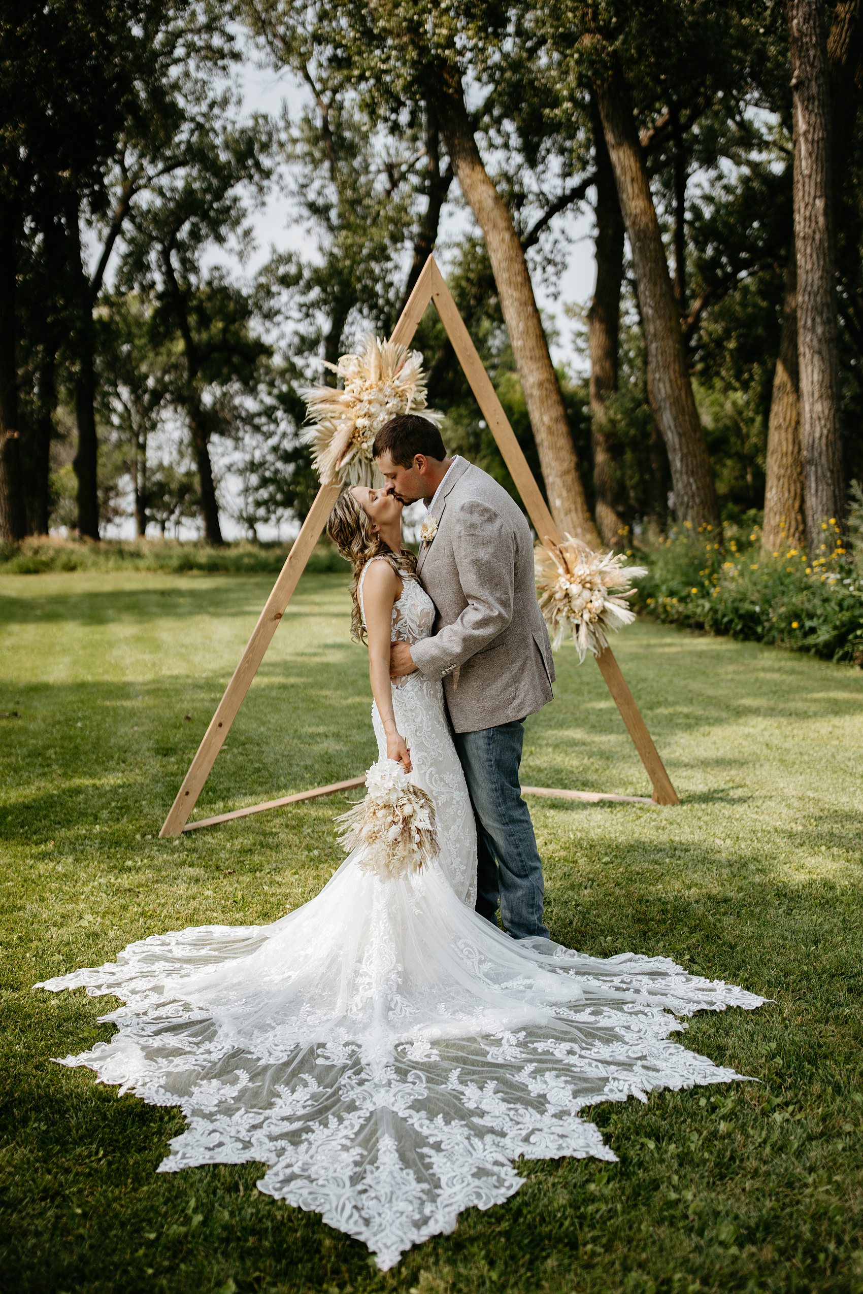
[[[415,641],[432,621],[405,578],[396,635]],[[126,1003],[102,1017],[110,1042],[62,1064],[182,1109],[160,1171],[260,1161],[261,1190],[320,1212],[384,1269],[463,1209],[518,1190],[520,1156],[615,1159],[585,1106],[739,1078],[669,1042],[683,1027],[669,1012],[763,1000],[664,958],[516,942],[479,917],[441,686],[411,674],[393,692],[415,782],[435,800],[440,866],[380,880],[355,850],[273,925],[154,934],[38,986]]]

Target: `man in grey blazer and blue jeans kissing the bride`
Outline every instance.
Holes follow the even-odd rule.
[[[554,681],[528,523],[486,472],[446,457],[427,418],[391,418],[373,453],[396,498],[428,507],[417,575],[437,608],[433,637],[392,644],[389,672],[444,679],[476,817],[476,911],[494,923],[499,903],[515,938],[547,938],[542,863],[519,783],[524,719],[551,700]]]

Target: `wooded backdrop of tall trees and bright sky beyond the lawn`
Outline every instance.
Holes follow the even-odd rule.
[[[850,534],[862,8],[25,5],[0,540],[292,533],[303,387],[432,250],[563,529]],[[512,488],[432,314],[414,344],[449,448]]]

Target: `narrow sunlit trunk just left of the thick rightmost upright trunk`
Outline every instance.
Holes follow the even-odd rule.
[[[797,259],[792,241],[785,270],[785,300],[779,357],[774,373],[767,423],[765,523],[761,545],[766,554],[806,542],[803,516],[803,457],[800,444],[797,367]]]

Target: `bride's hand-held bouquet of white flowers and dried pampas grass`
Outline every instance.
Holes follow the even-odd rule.
[[[422,871],[440,854],[435,805],[397,760],[373,763],[365,800],[335,820],[345,854],[357,849],[357,864],[382,879]]]

